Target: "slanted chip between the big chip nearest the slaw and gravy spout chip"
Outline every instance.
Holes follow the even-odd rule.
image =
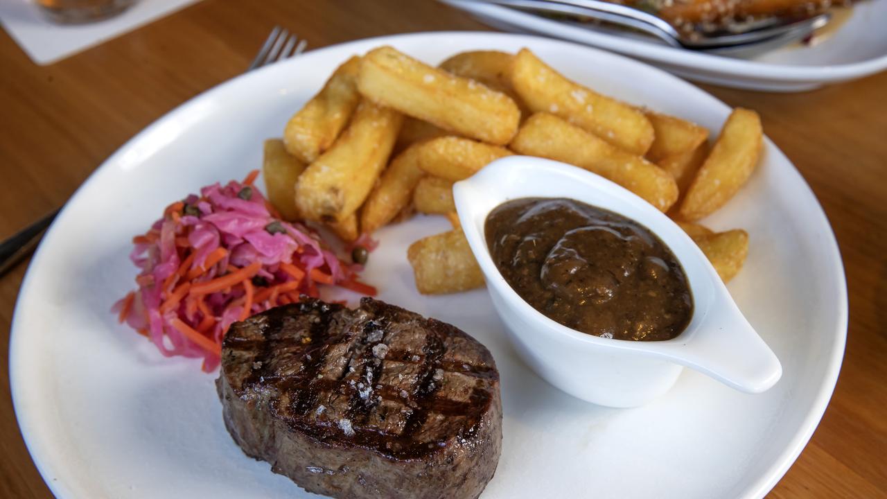
[[[425,172],[419,168],[418,147],[421,145],[397,154],[388,169],[382,173],[379,184],[370,197],[366,198],[360,209],[360,226],[365,233],[372,234],[379,227],[388,224],[410,204],[413,189],[425,177]]]

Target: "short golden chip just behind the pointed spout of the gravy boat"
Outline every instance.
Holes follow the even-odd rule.
[[[422,170],[452,182],[471,177],[491,161],[514,154],[505,147],[459,137],[431,139],[416,149]]]

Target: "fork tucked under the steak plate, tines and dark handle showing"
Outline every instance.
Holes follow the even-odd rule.
[[[298,36],[290,34],[287,29],[275,26],[271,29],[271,33],[268,35],[268,39],[265,40],[259,53],[255,54],[255,59],[253,59],[247,71],[299,55],[307,47],[307,41],[299,40]],[[36,248],[37,242],[40,242],[40,239],[43,238],[45,229],[50,226],[52,220],[58,215],[59,210],[53,210],[49,215],[40,218],[16,234],[12,234],[4,242],[0,242],[0,277],[3,277],[15,265],[19,264],[21,260],[31,254]]]

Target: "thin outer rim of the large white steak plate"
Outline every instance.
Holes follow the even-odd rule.
[[[659,77],[673,80],[675,84],[693,87],[695,91],[701,92],[706,98],[713,99],[720,105],[726,107],[726,104],[723,101],[712,96],[709,92],[704,91],[703,89],[697,87],[692,83],[687,83],[686,81],[680,79],[675,75],[671,75],[663,69],[651,66],[647,62],[632,59],[622,53],[614,53],[598,47],[588,46],[586,44],[579,44],[577,42],[572,42],[568,40],[553,39],[545,36],[484,31],[430,31],[359,38],[356,40],[342,42],[340,44],[326,45],[314,51],[310,51],[310,53],[313,54],[321,51],[336,51],[349,45],[396,44],[398,41],[404,39],[434,39],[436,37],[442,36],[468,38],[469,42],[467,43],[467,45],[476,45],[478,47],[482,47],[483,40],[474,42],[472,41],[472,39],[485,37],[513,38],[533,40],[536,43],[542,44],[569,45],[570,50],[590,51],[596,53],[597,55],[602,55],[605,57],[624,59],[625,63],[639,65],[640,67],[643,67],[645,71],[653,71],[655,74],[658,74]],[[284,61],[283,64],[292,62],[293,59],[290,59]],[[131,149],[137,147],[137,145],[145,138],[145,136],[148,136],[152,131],[158,128],[166,126],[167,123],[177,118],[178,115],[183,115],[187,113],[192,107],[199,104],[201,100],[207,99],[208,94],[215,93],[217,91],[223,91],[224,88],[239,84],[239,82],[244,79],[254,78],[256,77],[256,75],[261,74],[261,72],[270,69],[271,67],[262,67],[255,71],[242,73],[228,80],[225,80],[224,82],[218,83],[215,86],[210,87],[206,91],[201,91],[199,94],[195,95],[191,99],[187,99],[182,104],[179,104],[177,107],[173,107],[167,113],[161,115],[153,123],[150,123],[144,129],[138,131],[134,136],[124,142],[121,147],[114,151],[113,154],[108,156],[106,160],[102,162],[95,170],[93,170],[90,175],[83,180],[82,184],[77,187],[75,193],[71,195],[68,202],[66,202],[62,210],[59,212],[59,216],[53,221],[52,225],[49,227],[46,234],[44,235],[43,241],[40,243],[35,251],[35,255],[31,260],[31,264],[37,264],[35,266],[40,266],[40,264],[43,263],[43,260],[47,258],[47,248],[54,246],[52,242],[56,239],[56,236],[58,235],[58,231],[56,230],[56,228],[59,225],[63,224],[65,220],[67,220],[67,218],[71,216],[71,211],[68,210],[69,206],[71,204],[74,204],[74,202],[79,202],[83,195],[83,191],[91,184],[99,181],[98,178],[101,178],[103,175],[108,174],[113,167],[113,163],[117,162],[123,155],[130,152]],[[786,446],[786,448],[783,448],[781,452],[773,459],[773,463],[771,463],[766,468],[765,472],[761,473],[761,475],[759,475],[757,479],[750,480],[747,487],[741,486],[741,497],[762,497],[767,492],[769,492],[789,470],[791,465],[795,463],[795,461],[797,460],[797,456],[800,455],[801,451],[805,448],[807,442],[811,439],[812,433],[815,432],[816,428],[818,427],[820,419],[824,414],[826,408],[828,407],[828,402],[831,399],[832,393],[835,389],[837,377],[840,372],[841,364],[844,358],[844,347],[846,344],[847,327],[849,321],[847,284],[844,273],[844,263],[836,241],[834,230],[828,222],[828,217],[826,216],[825,211],[822,209],[819,200],[812,192],[812,189],[807,184],[805,178],[801,175],[800,171],[797,170],[797,167],[794,165],[794,163],[790,162],[789,158],[784,153],[782,153],[779,147],[776,147],[776,145],[770,139],[765,137],[765,143],[768,147],[773,148],[773,152],[775,154],[781,156],[782,161],[788,163],[788,165],[790,166],[790,168],[787,170],[788,174],[795,176],[796,179],[800,182],[800,190],[803,192],[800,192],[799,194],[809,196],[810,200],[813,202],[813,205],[817,209],[815,210],[815,217],[818,219],[818,224],[824,224],[821,226],[826,229],[824,234],[826,236],[826,241],[824,241],[825,244],[823,250],[826,251],[828,253],[828,257],[835,262],[832,278],[839,284],[838,289],[836,289],[836,293],[839,299],[836,301],[837,321],[835,324],[835,335],[832,341],[833,350],[831,352],[830,358],[828,359],[827,367],[823,372],[823,381],[820,384],[815,397],[813,397],[812,399],[812,405],[803,418],[802,423],[799,425],[798,431],[789,440],[789,444]],[[67,484],[62,483],[59,480],[51,479],[51,471],[59,468],[59,462],[52,462],[51,452],[49,452],[52,446],[49,445],[48,442],[40,441],[41,439],[38,436],[39,432],[35,432],[35,428],[32,428],[34,417],[31,416],[29,412],[32,409],[31,406],[29,404],[23,405],[22,403],[24,400],[27,400],[25,398],[25,393],[27,392],[27,389],[25,386],[23,386],[20,379],[26,377],[22,375],[26,370],[24,366],[27,365],[27,362],[23,361],[20,352],[23,348],[23,343],[26,341],[23,338],[26,338],[27,336],[22,331],[20,331],[21,326],[19,317],[21,314],[21,310],[24,309],[27,305],[26,302],[30,301],[30,299],[28,298],[32,294],[30,289],[35,285],[35,273],[32,272],[31,267],[32,265],[28,265],[27,273],[22,280],[19,294],[16,297],[16,304],[12,313],[9,344],[9,376],[12,395],[12,406],[16,416],[16,421],[19,424],[20,434],[25,442],[28,453],[29,455],[31,455],[35,467],[37,468],[37,471],[40,472],[40,475],[43,478],[43,481],[46,483],[47,487],[50,488],[53,495],[59,498],[75,497],[72,490],[67,486]],[[64,464],[62,463],[60,464],[60,466],[63,468]]]

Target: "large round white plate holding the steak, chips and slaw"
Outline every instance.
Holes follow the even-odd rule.
[[[12,324],[12,398],[37,468],[60,498],[305,495],[244,455],[224,429],[199,361],[166,359],[108,309],[131,289],[130,238],[200,186],[241,178],[262,141],[342,60],[391,44],[430,63],[476,49],[528,46],[608,94],[717,131],[729,109],[679,79],[575,44],[492,33],[430,33],[341,44],[235,78],[130,140],[68,202],[37,251]],[[751,237],[731,282],[742,312],[785,374],[761,395],[685,371],[643,408],[600,408],[532,374],[507,344],[483,289],[422,297],[410,242],[447,227],[419,217],[381,231],[366,281],[380,297],[449,321],[487,345],[502,376],[504,443],[484,497],[758,497],[804,448],[834,388],[847,300],[834,236],[797,170],[773,143],[708,223]],[[593,380],[589,380],[593,383]]]

